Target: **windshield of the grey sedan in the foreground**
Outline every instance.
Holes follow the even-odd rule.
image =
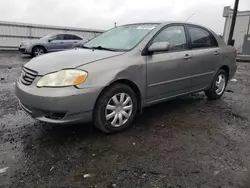
[[[133,24],[111,29],[84,45],[86,48],[131,50],[158,24]]]

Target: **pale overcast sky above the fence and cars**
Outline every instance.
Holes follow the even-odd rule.
[[[185,21],[222,34],[224,6],[234,0],[0,0],[0,21],[109,29],[135,22]],[[239,10],[250,10],[240,0]]]

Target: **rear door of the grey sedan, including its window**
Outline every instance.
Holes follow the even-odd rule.
[[[213,35],[202,27],[188,26],[192,48],[194,75],[190,87],[194,90],[207,87],[220,64],[220,49]]]

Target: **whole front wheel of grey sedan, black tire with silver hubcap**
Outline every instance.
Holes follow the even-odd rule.
[[[117,105],[115,103],[115,100],[113,100],[115,98],[117,99],[116,102],[119,102],[119,104],[117,103]],[[113,109],[114,107],[115,109]],[[93,113],[94,125],[105,133],[122,131],[132,125],[132,122],[137,113],[137,109],[138,101],[135,92],[128,85],[122,83],[113,84],[100,94],[96,102]],[[123,111],[126,112],[126,117]],[[120,114],[122,115],[121,120],[123,121],[120,121]],[[107,119],[108,117],[110,119]]]

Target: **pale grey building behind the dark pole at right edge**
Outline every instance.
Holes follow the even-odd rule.
[[[223,17],[225,18],[223,38],[227,42],[233,17],[233,9],[230,6],[224,7]],[[238,53],[250,55],[250,11],[238,11],[233,40]]]

